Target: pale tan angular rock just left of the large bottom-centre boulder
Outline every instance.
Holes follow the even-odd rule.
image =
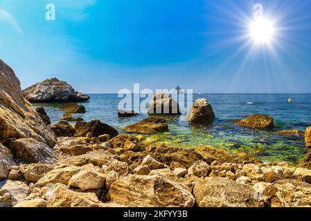
[[[82,191],[89,189],[100,189],[105,184],[106,177],[102,173],[83,170],[73,175],[69,180],[69,185],[80,188]]]

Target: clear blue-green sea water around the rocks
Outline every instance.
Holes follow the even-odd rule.
[[[117,94],[91,94],[89,102],[83,103],[87,113],[76,114],[85,121],[100,119],[114,126],[120,133],[124,126],[139,122],[148,117],[141,114],[135,117],[118,118]],[[224,148],[233,153],[245,151],[265,162],[287,161],[296,164],[305,155],[303,137],[284,136],[277,130],[299,129],[304,131],[311,126],[311,94],[195,94],[193,99],[203,97],[213,106],[216,119],[210,126],[193,126],[181,116],[166,116],[169,131],[148,135],[148,142],[165,142],[179,147],[209,144]],[[291,98],[292,103],[287,99]],[[52,122],[62,119],[63,111],[59,104],[34,104],[44,106]],[[278,128],[260,131],[244,128],[234,123],[254,113],[263,113],[274,117]]]

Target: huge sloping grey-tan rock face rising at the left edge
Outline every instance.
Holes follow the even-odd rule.
[[[0,59],[0,140],[33,137],[54,146],[56,136],[42,122],[33,106],[24,99],[19,79]]]

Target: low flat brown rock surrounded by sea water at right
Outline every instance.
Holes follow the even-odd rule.
[[[238,124],[251,128],[272,128],[274,127],[274,119],[267,115],[251,115],[245,119],[241,119]]]

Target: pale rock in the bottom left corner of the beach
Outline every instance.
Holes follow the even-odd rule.
[[[17,180],[0,182],[0,207],[14,206],[26,199],[30,189],[27,184]]]

